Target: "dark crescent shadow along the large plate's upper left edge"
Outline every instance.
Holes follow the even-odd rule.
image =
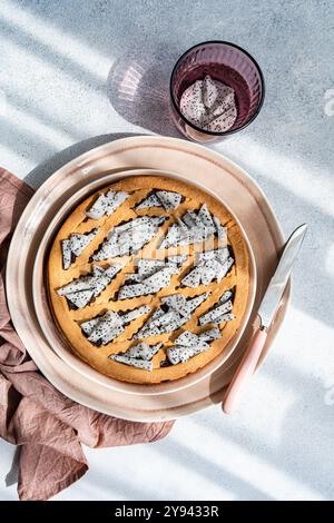
[[[139,136],[135,132],[112,132],[108,135],[99,135],[92,138],[88,138],[82,141],[78,141],[70,147],[57,152],[52,157],[48,158],[46,161],[39,164],[35,169],[32,169],[24,178],[24,181],[33,188],[38,188],[43,181],[46,181],[49,176],[51,176],[56,170],[63,167],[69,161],[73,160],[84,152],[99,147],[109,141],[119,140],[121,138],[128,138],[131,136]],[[141,136],[141,135],[140,135]]]

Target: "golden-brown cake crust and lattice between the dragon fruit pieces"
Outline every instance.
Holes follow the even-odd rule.
[[[87,218],[86,211],[91,207],[92,203],[97,198],[97,195],[102,193],[106,194],[109,188],[112,190],[129,191],[130,197],[110,216],[102,216],[100,219]],[[135,210],[136,205],[154,189],[178,193],[183,195],[184,200],[173,213],[168,213],[160,207]],[[171,223],[177,219],[177,217],[181,217],[188,209],[198,209],[203,204],[206,204],[208,210],[214,216],[218,217],[220,223],[226,227],[228,245],[233,250],[235,264],[232,270],[219,284],[215,280],[208,285],[200,285],[196,288],[179,287],[180,279],[189,272],[189,268],[193,266],[194,246],[171,247],[165,251],[158,250],[157,247],[159,246],[161,238],[166,234],[167,229],[170,227]],[[91,304],[80,309],[69,309],[66,297],[59,296],[57,289],[82,275],[91,273],[92,263],[90,262],[90,256],[96,249],[98,249],[99,245],[106,238],[108,231],[112,229],[114,226],[122,221],[137,218],[138,216],[168,216],[169,219],[159,227],[158,234],[143,247],[140,253],[132,256],[125,256],[122,258],[112,258],[112,263],[122,260],[126,262],[126,265]],[[89,244],[89,246],[84,249],[84,251],[76,258],[70,268],[65,270],[62,266],[61,241],[67,239],[73,233],[87,233],[95,227],[99,228],[99,233]],[[169,287],[163,288],[155,295],[122,300],[112,300],[112,297],[115,297],[115,294],[118,292],[119,287],[125,283],[126,276],[129,273],[135,272],[135,262],[138,256],[143,258],[151,258],[153,253],[155,253],[155,257],[160,257],[164,259],[166,255],[181,254],[183,251],[187,251],[189,254],[189,258],[183,265],[181,272],[178,275],[171,276]],[[109,258],[108,260],[104,262],[95,262],[94,265],[106,267],[108,264],[110,264],[110,262],[111,259]],[[208,328],[208,326],[204,328],[198,325],[198,317],[207,310],[212,309],[224,292],[230,288],[234,288],[235,292],[233,303],[233,313],[235,315],[235,319],[219,325],[222,337],[212,342],[210,348],[208,351],[191,357],[186,363],[160,367],[160,362],[166,358],[166,348],[173,345],[173,341],[179,334],[181,334],[184,330],[190,330],[195,334],[199,334]],[[131,383],[153,384],[163,381],[178,379],[189,373],[198,371],[213,361],[216,356],[218,356],[239,328],[243,315],[245,313],[249,289],[247,247],[238,225],[227,211],[227,209],[217,199],[202,189],[179,180],[158,176],[124,178],[92,194],[89,198],[78,205],[78,207],[65,220],[55,238],[49,256],[48,289],[52,313],[58,327],[76,354],[81,359],[87,362],[91,367],[112,378]],[[147,304],[151,307],[151,312],[154,312],[159,306],[160,298],[164,296],[180,293],[187,297],[194,297],[208,290],[210,292],[208,298],[202,303],[202,305],[191,315],[191,318],[178,330],[174,333],[160,334],[149,338],[149,345],[154,345],[158,342],[164,343],[164,347],[153,358],[154,369],[151,372],[141,368],[135,368],[109,358],[110,355],[122,353],[130,346],[135,345],[135,341],[131,339],[134,334],[139,330],[151,313],[132,320],[119,337],[117,337],[114,342],[102,346],[96,346],[91,344],[82,334],[80,328],[80,324],[82,322],[95,318],[96,316],[99,316],[107,310],[129,310]],[[148,342],[147,339],[145,341]]]

